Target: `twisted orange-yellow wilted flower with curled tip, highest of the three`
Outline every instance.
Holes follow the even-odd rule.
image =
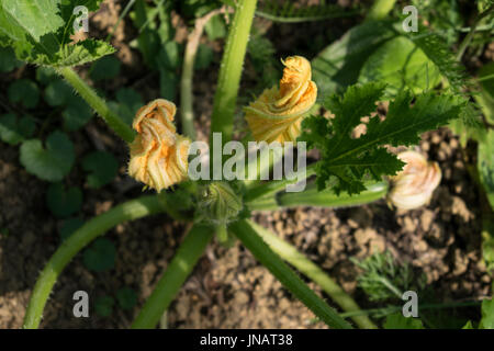
[[[295,141],[302,117],[316,101],[317,87],[311,80],[311,63],[302,56],[291,56],[282,63],[285,67],[280,87],[266,89],[244,107],[257,141]]]

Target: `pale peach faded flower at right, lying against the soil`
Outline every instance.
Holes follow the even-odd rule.
[[[419,152],[411,150],[401,152],[397,157],[406,165],[400,173],[390,177],[388,200],[403,210],[417,208],[428,203],[441,181],[439,165],[427,162]]]

